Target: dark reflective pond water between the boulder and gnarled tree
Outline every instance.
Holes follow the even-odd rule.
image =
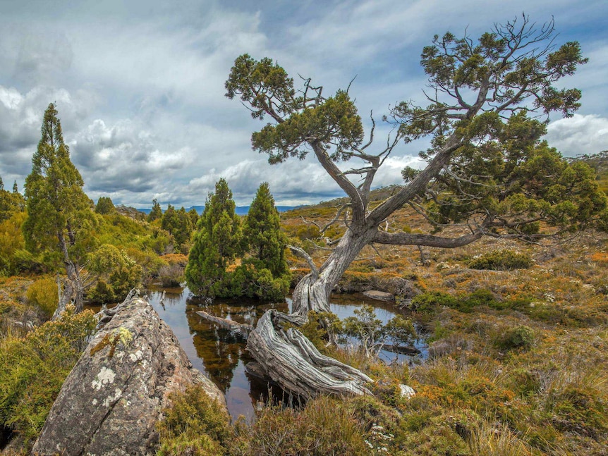
[[[165,291],[165,297],[160,302],[162,290]],[[245,352],[245,342],[227,329],[218,328],[216,324],[202,319],[196,312],[205,310],[209,314],[238,323],[255,325],[257,319],[268,309],[288,312],[290,302],[259,304],[247,300],[215,300],[208,304],[205,300],[190,296],[188,288],[152,289],[148,290],[148,295],[150,304],[171,326],[193,365],[206,373],[226,395],[231,417],[236,419],[239,415],[244,415],[246,419],[251,419],[256,402],[267,397],[267,384],[250,378],[245,372],[245,364],[252,361]],[[354,310],[363,303],[372,304],[377,318],[383,323],[389,321],[396,312],[392,304],[367,300],[363,295],[332,297],[332,312],[344,319],[354,316]],[[390,352],[381,352],[380,357],[387,362],[395,359],[400,362],[408,360],[404,355]]]

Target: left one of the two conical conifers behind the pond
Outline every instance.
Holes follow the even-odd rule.
[[[186,266],[186,283],[197,296],[221,295],[229,283],[226,266],[241,246],[241,220],[235,207],[228,183],[220,179],[205,202]]]

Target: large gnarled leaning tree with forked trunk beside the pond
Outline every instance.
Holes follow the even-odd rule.
[[[253,118],[270,118],[253,133],[253,149],[268,154],[271,164],[314,154],[350,200],[346,233],[333,252],[320,267],[307,258],[311,272],[293,292],[295,314],[305,319],[310,310],[329,311],[334,285],[365,245],[451,248],[484,235],[529,239],[543,235],[539,221],[573,229],[604,210],[605,197],[588,169],[569,166],[540,142],[545,124],[537,116],[548,118],[554,111],[571,116],[578,109],[580,91],[559,89],[555,83],[586,61],[578,43],[556,47],[555,37],[552,21],[537,27],[526,16],[495,25],[476,40],[436,35],[421,56],[429,77],[427,106],[411,101],[396,104],[384,118],[395,128],[379,148],[373,142],[373,120],[365,140],[348,91],[324,97],[322,87],[310,79],[296,90],[293,79],[270,58],[256,61],[247,54],[236,58],[226,96],[239,97]],[[426,136],[432,138],[431,149],[421,154],[426,167],[404,170],[406,180],[399,190],[370,207],[375,175],[389,154],[398,144]],[[346,162],[357,164],[339,166]],[[437,230],[413,234],[380,228],[408,204],[437,230],[446,223],[461,223],[466,232],[451,238]],[[267,328],[253,331],[250,345],[252,340],[260,345],[261,338],[272,340],[267,347],[275,348],[276,334],[257,334]],[[274,329],[282,331],[280,325]],[[288,345],[293,337],[283,340]],[[250,347],[250,351],[258,360],[268,357],[263,355],[265,347]]]

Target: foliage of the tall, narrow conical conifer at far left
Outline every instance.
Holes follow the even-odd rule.
[[[54,263],[61,259],[77,264],[91,249],[95,217],[83,185],[51,103],[44,111],[42,138],[32,158],[32,172],[25,179],[28,218],[23,223],[23,235],[30,252],[47,252]]]

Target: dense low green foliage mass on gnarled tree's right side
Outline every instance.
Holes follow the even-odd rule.
[[[600,226],[608,203],[595,173],[580,161],[569,164],[540,140],[545,133],[543,123],[519,113],[494,125],[482,146],[458,149],[431,184],[439,194],[428,206],[437,229],[475,216],[523,239],[545,235],[540,221],[564,231]]]

